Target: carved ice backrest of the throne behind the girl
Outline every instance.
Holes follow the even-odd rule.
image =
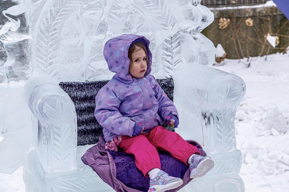
[[[173,76],[183,60],[211,65],[214,53],[200,54],[199,45],[210,42],[200,31],[213,15],[195,5],[164,0],[46,2],[32,13],[39,19],[33,28],[31,63],[36,73],[55,81],[110,79],[113,74],[103,58],[105,42],[134,33],[151,41],[157,78]],[[209,49],[214,49],[212,44]]]

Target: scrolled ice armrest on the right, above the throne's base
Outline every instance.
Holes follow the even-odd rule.
[[[236,150],[235,114],[246,86],[241,77],[200,64],[182,63],[173,77],[176,131],[210,154]]]

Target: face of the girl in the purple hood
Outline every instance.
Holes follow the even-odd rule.
[[[135,78],[142,78],[147,71],[147,55],[140,47],[136,47],[132,52],[132,62],[129,64],[129,74]]]

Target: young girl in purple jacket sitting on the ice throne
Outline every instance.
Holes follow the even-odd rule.
[[[150,177],[151,191],[179,187],[180,178],[161,171],[157,149],[168,151],[189,165],[191,178],[204,176],[214,166],[213,160],[179,134],[160,125],[177,128],[179,116],[151,73],[152,54],[144,36],[120,35],[104,45],[109,70],[116,73],[95,97],[95,117],[103,127],[105,149],[118,149],[135,156],[135,164]]]

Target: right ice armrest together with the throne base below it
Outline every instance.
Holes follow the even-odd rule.
[[[208,191],[244,191],[238,176],[242,155],[236,149],[234,129],[236,109],[246,92],[243,80],[204,65],[182,63],[174,82],[180,120],[176,132],[186,140],[196,140],[215,161],[212,171],[189,186],[196,191],[204,187]]]

